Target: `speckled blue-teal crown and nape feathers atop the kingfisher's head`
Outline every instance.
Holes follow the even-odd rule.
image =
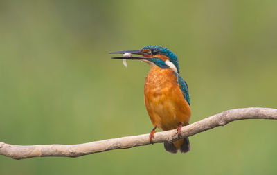
[[[157,50],[161,55],[166,55],[170,59],[170,62],[172,62],[179,73],[179,61],[177,58],[177,55],[175,53],[172,53],[172,51],[168,50],[168,48],[165,48],[163,46],[155,46],[155,45],[150,45],[150,46],[144,46],[142,49],[149,49],[149,50]]]

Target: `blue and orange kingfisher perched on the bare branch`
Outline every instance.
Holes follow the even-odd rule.
[[[157,127],[163,131],[177,129],[179,136],[181,127],[190,121],[191,111],[188,84],[179,75],[177,55],[168,48],[155,45],[111,53],[124,54],[112,59],[140,60],[150,65],[144,84],[145,107],[154,126],[150,132],[150,142]],[[188,138],[181,138],[175,142],[164,142],[164,148],[170,153],[186,153],[190,150],[190,142]]]

